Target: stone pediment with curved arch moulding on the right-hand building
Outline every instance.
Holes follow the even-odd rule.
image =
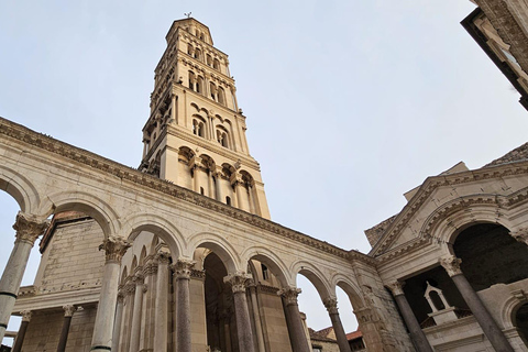
[[[512,207],[528,199],[527,185],[526,161],[428,177],[383,229],[369,255],[382,260],[428,245],[436,221],[476,205]]]

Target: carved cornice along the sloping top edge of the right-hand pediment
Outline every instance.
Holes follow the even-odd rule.
[[[383,253],[383,251],[387,250],[388,246],[396,240],[397,234],[400,233],[402,230],[408,224],[408,221],[424,206],[424,204],[429,199],[429,197],[436,189],[440,187],[457,186],[474,182],[483,182],[494,178],[504,178],[508,176],[518,176],[526,174],[528,174],[528,162],[519,162],[480,168],[476,170],[462,172],[453,175],[428,177],[424,182],[417,194],[413,197],[413,199],[404,207],[404,209],[397,215],[396,219],[388,226],[381,241],[376,243],[376,245],[372,249],[369,255],[376,256]],[[508,202],[518,202],[528,198],[528,195],[514,195],[504,198],[508,199]],[[488,195],[485,195],[485,197],[487,196]],[[493,197],[497,196],[493,195]]]

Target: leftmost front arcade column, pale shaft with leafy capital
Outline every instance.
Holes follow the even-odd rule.
[[[0,341],[3,340],[13,310],[22,276],[35,240],[50,226],[50,221],[19,211],[13,229],[16,239],[6,270],[0,278]]]

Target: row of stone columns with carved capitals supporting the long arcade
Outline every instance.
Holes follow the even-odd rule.
[[[0,317],[3,339],[12,307],[14,306],[16,293],[23,276],[29,253],[36,238],[42,234],[48,226],[47,220],[38,220],[20,212],[14,226],[16,230],[16,241],[10,257],[10,262],[0,280],[1,306]],[[132,279],[124,286],[119,285],[121,260],[131,246],[129,242],[118,237],[108,237],[99,246],[105,251],[103,278],[101,280],[101,293],[95,320],[91,351],[139,351],[146,348],[142,345],[147,343],[154,352],[166,352],[167,350],[167,321],[169,289],[168,276],[169,254],[158,252],[153,256],[142,271],[133,273]],[[190,312],[190,292],[189,279],[191,276],[194,261],[179,258],[173,265],[175,278],[175,344],[178,352],[191,351],[191,312]],[[239,350],[244,352],[265,352],[264,337],[260,323],[260,309],[256,299],[256,286],[251,279],[251,275],[245,273],[231,273],[223,278],[224,283],[231,287],[233,295],[234,314],[237,319],[237,339]],[[277,294],[280,295],[285,306],[286,321],[288,324],[290,342],[294,352],[310,351],[306,338],[301,315],[298,309],[297,296],[300,289],[296,287],[285,287]],[[143,306],[146,299],[154,301],[154,310],[148,310]],[[250,299],[250,302],[248,301]],[[131,310],[124,309],[125,301]],[[332,326],[336,329],[338,343],[341,352],[349,352],[344,330],[341,326],[337,312],[336,299],[326,300],[324,305],[329,311]],[[252,315],[250,315],[250,306]],[[65,351],[72,318],[76,307],[67,305],[63,307],[64,323],[61,332],[57,351]],[[20,352],[24,341],[25,331],[30,323],[32,312],[22,312],[22,324],[13,346],[14,352]],[[256,324],[256,333],[252,330],[253,323]],[[127,319],[130,326],[127,327]],[[129,330],[130,333],[125,333]],[[154,338],[141,339],[142,331],[154,331]],[[145,342],[147,341],[147,342]]]

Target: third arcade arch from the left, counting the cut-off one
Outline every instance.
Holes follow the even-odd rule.
[[[164,217],[150,213],[133,213],[128,217],[123,223],[123,233],[127,234],[130,241],[133,241],[142,231],[151,232],[162,239],[167,244],[173,261],[176,261],[185,249],[184,237],[179,230]]]

